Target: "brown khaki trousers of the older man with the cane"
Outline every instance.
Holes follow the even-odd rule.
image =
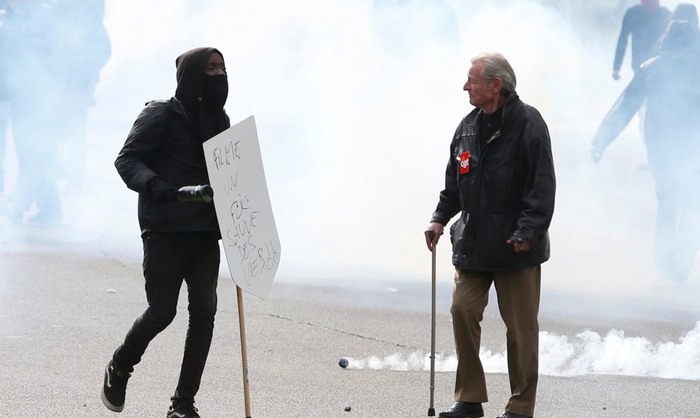
[[[479,360],[484,309],[491,283],[498,310],[506,323],[511,399],[506,411],[532,417],[535,412],[539,354],[539,289],[541,266],[515,272],[474,272],[457,269],[452,318],[457,349],[455,400],[488,402],[484,368]]]

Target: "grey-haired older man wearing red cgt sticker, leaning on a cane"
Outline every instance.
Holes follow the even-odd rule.
[[[506,323],[511,399],[501,418],[532,417],[538,380],[541,265],[549,259],[554,163],[547,124],[515,93],[503,55],[472,58],[464,90],[476,109],[450,144],[445,189],[426,228],[433,250],[450,227],[456,268],[452,316],[457,349],[455,403],[444,418],[483,417],[488,402],[479,345],[491,284]],[[431,240],[431,232],[435,238]]]

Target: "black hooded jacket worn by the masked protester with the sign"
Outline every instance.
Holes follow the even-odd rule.
[[[179,202],[174,195],[183,186],[209,184],[202,143],[231,126],[223,108],[207,109],[202,100],[204,70],[214,52],[221,55],[197,48],[177,58],[175,97],[146,103],[115,161],[127,187],[139,192],[142,234],[219,233],[214,204]]]

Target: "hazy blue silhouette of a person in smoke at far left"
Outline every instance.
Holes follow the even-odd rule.
[[[18,178],[11,221],[62,220],[59,180],[85,163],[85,123],[110,56],[104,0],[11,0],[3,61]]]

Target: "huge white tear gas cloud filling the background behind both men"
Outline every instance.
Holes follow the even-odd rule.
[[[136,193],[113,161],[144,103],[173,95],[175,57],[213,46],[228,67],[231,121],[257,120],[283,248],[277,280],[428,281],[423,231],[450,139],[471,110],[469,58],[495,50],[552,137],[558,187],[543,290],[678,298],[654,275],[654,184],[638,170],[646,151],[636,119],[601,163],[590,161],[595,129],[631,79],[629,51],[623,79],[610,73],[635,3],[107,1],[112,54],[89,113],[84,178],[59,182],[64,224],[72,240],[139,259]],[[5,197],[17,165],[8,141]],[[446,236],[438,277],[453,278]]]

